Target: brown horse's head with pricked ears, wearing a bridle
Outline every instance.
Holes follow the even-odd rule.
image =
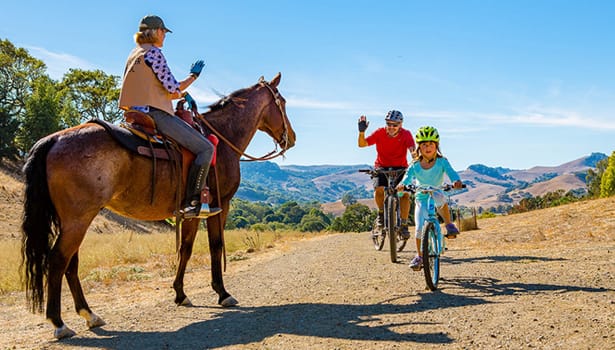
[[[281,77],[282,74],[278,73],[270,82],[263,77],[259,79],[259,89],[267,91],[271,103],[263,109],[258,129],[269,134],[282,147],[282,150],[286,151],[295,145],[296,135],[286,114],[286,100],[278,91]]]

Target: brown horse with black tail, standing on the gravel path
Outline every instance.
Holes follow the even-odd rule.
[[[283,153],[295,143],[286,115],[286,101],[279,94],[278,73],[271,82],[261,80],[210,106],[203,117],[223,140],[217,148],[215,171],[208,185],[212,203],[221,214],[207,219],[211,254],[212,287],[218,304],[237,301],[222,280],[223,227],[229,202],[240,182],[239,161],[257,130],[269,134]],[[43,311],[47,283],[47,319],[56,338],[70,337],[60,315],[62,276],[66,276],[75,308],[88,327],[105,322],[94,314],[85,300],[79,280],[79,246],[90,223],[102,208],[138,220],[162,220],[173,216],[178,182],[171,161],[158,161],[152,176],[152,161],[122,148],[94,123],[56,132],[32,148],[24,172],[26,189],[22,222],[22,257],[26,295],[33,312]],[[154,200],[152,178],[155,179]],[[217,178],[217,179],[216,179]],[[183,189],[180,193],[184,193]],[[183,222],[179,242],[179,266],[173,282],[175,303],[190,304],[183,290],[186,265],[200,220]]]

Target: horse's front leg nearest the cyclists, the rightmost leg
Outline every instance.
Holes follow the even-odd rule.
[[[207,219],[209,254],[211,256],[211,286],[218,293],[218,304],[235,306],[238,301],[224,288],[222,279],[222,252],[224,249],[223,233],[224,213]]]

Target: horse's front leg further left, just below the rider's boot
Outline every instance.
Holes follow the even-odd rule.
[[[177,273],[175,275],[175,281],[173,281],[173,289],[175,289],[175,304],[180,306],[190,306],[192,302],[184,293],[184,274],[186,273],[186,266],[188,260],[192,256],[192,247],[194,246],[194,239],[199,229],[199,219],[186,220],[182,223],[181,228],[181,241],[179,245],[179,265],[177,266]]]

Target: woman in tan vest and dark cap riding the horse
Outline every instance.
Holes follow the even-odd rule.
[[[164,44],[165,27],[158,16],[145,16],[135,34],[137,47],[132,50],[126,62],[124,80],[120,92],[120,108],[147,113],[156,122],[158,130],[175,142],[189,149],[196,158],[188,171],[186,196],[181,213],[185,218],[207,218],[220,212],[201,203],[205,198],[205,179],[214,152],[214,146],[203,135],[174,116],[172,100],[181,98],[201,74],[204,63],[199,60],[192,64],[190,75],[181,82],[175,80],[160,48]]]

